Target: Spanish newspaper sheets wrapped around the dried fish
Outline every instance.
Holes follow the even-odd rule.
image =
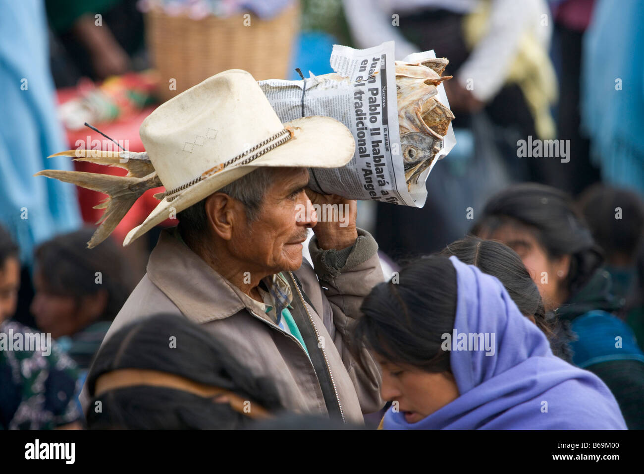
[[[435,57],[433,51],[427,51],[403,61],[420,63]],[[336,44],[330,63],[335,74],[316,77],[310,73],[301,81],[259,83],[281,121],[326,115],[345,124],[354,135],[353,159],[342,168],[310,168],[310,188],[348,199],[424,206],[427,177],[456,143],[451,124],[444,138],[435,142],[440,148],[435,159],[408,184],[399,132],[393,41],[364,50]],[[442,84],[437,90],[440,103],[449,107]]]

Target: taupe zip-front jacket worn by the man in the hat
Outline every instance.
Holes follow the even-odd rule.
[[[296,272],[284,272],[294,295],[291,312],[309,359],[292,335],[279,329],[268,315],[245,305],[231,283],[177,239],[174,232],[161,233],[146,275],[105,339],[142,317],[156,313],[184,315],[203,324],[252,373],[274,380],[287,410],[363,422],[362,413],[383,407],[378,364],[367,356],[363,369],[345,343],[348,323],[358,317],[363,298],[383,281],[377,244],[371,235],[359,230],[339,270],[328,263],[334,260],[330,253],[335,251],[320,250],[314,237],[309,250],[315,271],[305,261]]]

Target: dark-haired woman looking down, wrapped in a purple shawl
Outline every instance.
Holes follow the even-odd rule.
[[[363,302],[385,430],[625,430],[611,391],[555,357],[504,286],[456,257],[415,261]]]

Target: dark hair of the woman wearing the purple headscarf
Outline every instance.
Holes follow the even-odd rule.
[[[394,364],[451,371],[449,353],[440,345],[441,335],[454,328],[456,301],[456,270],[450,259],[419,259],[391,281],[377,284],[365,298],[354,341]]]

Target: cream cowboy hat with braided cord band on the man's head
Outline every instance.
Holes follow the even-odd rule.
[[[252,75],[238,69],[161,104],[139,133],[166,193],[124,246],[259,166],[339,168],[355,150],[352,133],[336,119],[282,124]]]

